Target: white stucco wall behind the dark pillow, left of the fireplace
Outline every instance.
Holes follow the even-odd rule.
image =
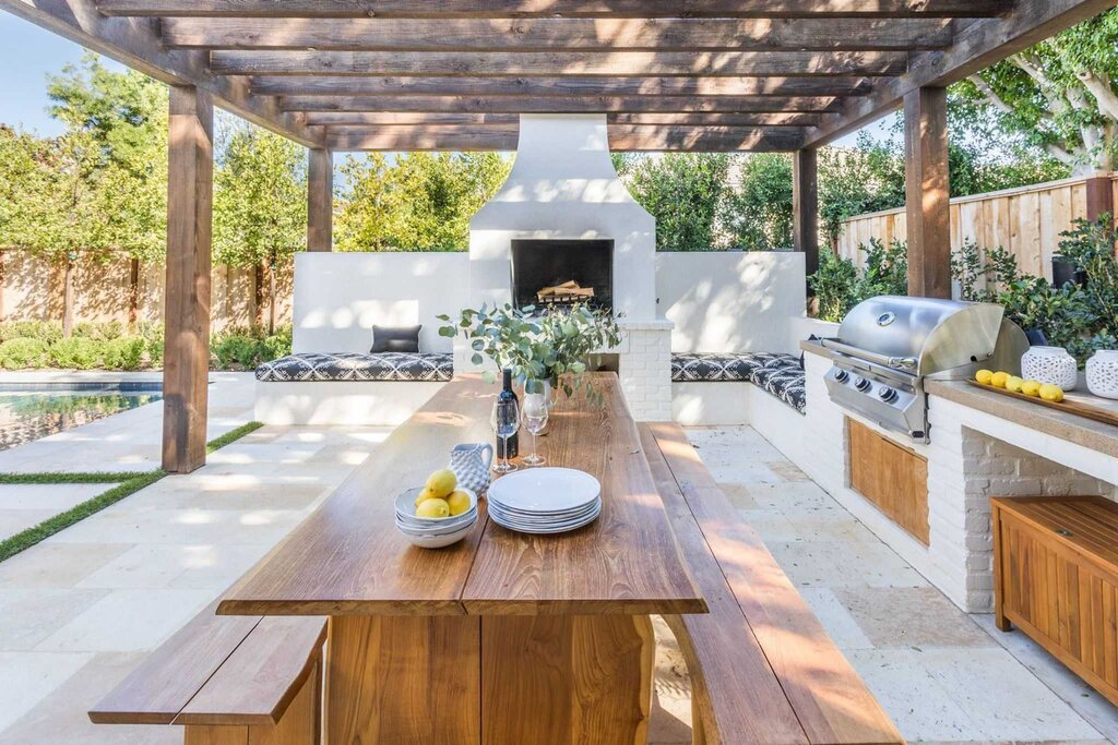
[[[368,352],[371,328],[423,324],[419,348],[449,352],[435,316],[467,305],[466,254],[299,254],[294,351]]]

